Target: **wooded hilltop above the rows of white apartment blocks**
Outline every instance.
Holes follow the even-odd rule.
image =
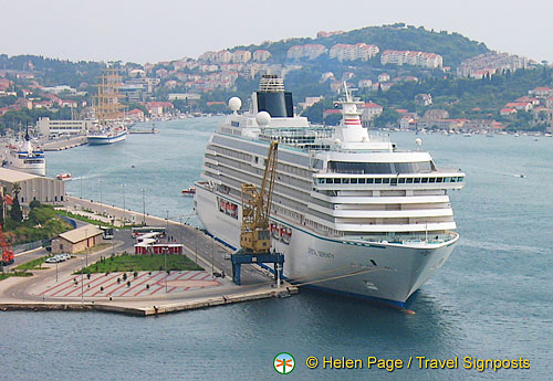
[[[288,39],[279,42],[265,42],[260,45],[236,46],[231,51],[264,49],[271,52],[274,61],[283,62],[288,50],[293,45],[322,44],[330,49],[337,43],[353,44],[358,42],[377,45],[380,52],[384,50],[413,50],[437,53],[444,56],[445,66],[452,67],[458,66],[466,59],[490,51],[484,43],[469,40],[459,33],[428,31],[422,27],[406,27],[403,23],[367,27],[320,39]]]

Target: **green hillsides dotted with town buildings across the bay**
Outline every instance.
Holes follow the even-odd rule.
[[[420,50],[405,50],[400,42],[380,43],[375,29],[369,31],[373,34],[367,35],[375,41],[358,36],[359,31],[321,31],[315,39],[289,39],[146,64],[72,63],[3,54],[0,133],[15,133],[24,126],[36,127],[42,135],[65,127],[71,133],[86,130],[96,117],[93,106],[98,77],[108,66],[118,71],[117,99],[131,121],[227,113],[231,96],[248,98],[261,75],[274,74],[293,92],[295,113],[312,123],[340,123],[332,103],[345,82],[363,100],[366,127],[552,131],[553,65],[492,52],[457,33],[405,24],[378,30],[388,36],[408,32],[415,42],[421,33],[441,39],[436,41],[457,39],[463,42],[459,46],[470,49],[442,52],[439,43],[421,42]]]

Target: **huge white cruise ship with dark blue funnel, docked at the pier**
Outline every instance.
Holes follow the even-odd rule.
[[[405,307],[451,255],[459,235],[448,191],[458,169],[420,150],[400,150],[362,127],[344,84],[343,119],[314,126],[293,114],[283,80],[265,75],[249,112],[233,112],[211,135],[195,208],[207,231],[238,247],[241,184],[261,184],[269,145],[279,141],[271,202],[272,246],[292,283]]]

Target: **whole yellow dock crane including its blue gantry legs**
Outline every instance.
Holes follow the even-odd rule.
[[[276,173],[279,141],[269,146],[261,189],[252,183],[242,184],[242,224],[240,227],[240,250],[232,254],[232,282],[240,285],[240,266],[247,263],[273,263],[278,285],[282,276],[284,255],[271,253],[271,231],[269,218]]]

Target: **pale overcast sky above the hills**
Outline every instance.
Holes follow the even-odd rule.
[[[553,62],[553,0],[0,0],[0,53],[72,61],[159,62],[405,22]]]

